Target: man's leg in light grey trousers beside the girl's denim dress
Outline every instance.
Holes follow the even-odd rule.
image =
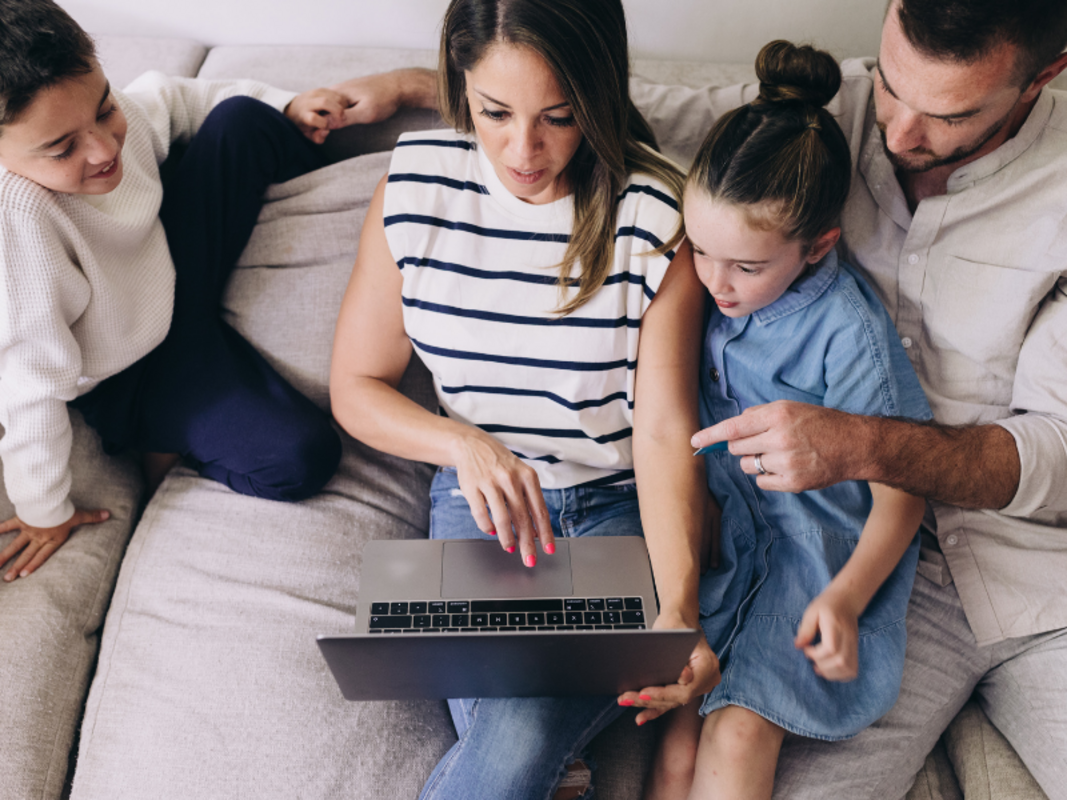
[[[892,710],[855,738],[818,741],[787,736],[775,798],[899,800],[927,753],[990,668],[954,586],[915,577],[908,607],[904,684]]]

